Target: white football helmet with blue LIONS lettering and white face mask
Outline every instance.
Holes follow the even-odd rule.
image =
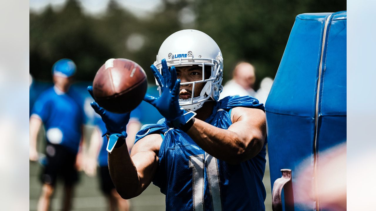
[[[217,101],[222,92],[223,57],[217,43],[208,35],[199,30],[186,29],[173,33],[162,43],[159,48],[154,65],[162,74],[162,59],[166,59],[167,66],[202,66],[202,80],[181,83],[192,84],[190,99],[179,99],[179,104],[187,111],[200,109],[209,98]],[[205,66],[211,67],[211,75],[205,77]],[[206,78],[206,79],[205,79]],[[205,83],[200,96],[194,98],[194,85]],[[159,94],[161,87],[156,81]]]

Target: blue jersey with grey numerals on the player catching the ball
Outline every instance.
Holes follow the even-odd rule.
[[[227,129],[234,107],[264,110],[252,96],[232,96],[217,101],[205,122]],[[240,164],[229,164],[203,151],[186,133],[168,128],[165,119],[144,125],[136,142],[144,136],[160,133],[159,167],[153,184],[166,195],[166,210],[218,211],[265,210],[266,140],[258,155]]]

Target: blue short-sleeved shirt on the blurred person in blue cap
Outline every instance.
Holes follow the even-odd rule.
[[[33,115],[42,120],[47,142],[66,146],[77,153],[83,113],[69,92],[61,92],[56,87],[45,90],[34,104]]]

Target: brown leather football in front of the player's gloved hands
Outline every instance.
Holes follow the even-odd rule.
[[[93,81],[93,94],[99,106],[114,113],[130,112],[144,99],[145,71],[129,59],[109,59]]]

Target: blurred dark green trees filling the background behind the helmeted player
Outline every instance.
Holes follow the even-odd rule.
[[[140,2],[140,4],[142,4]],[[169,35],[197,29],[211,36],[224,57],[224,82],[241,60],[256,68],[256,84],[274,78],[298,14],[346,10],[346,0],[161,0],[154,12],[138,16],[110,0],[102,14],[83,11],[79,0],[61,8],[30,10],[30,74],[51,81],[51,67],[61,58],[76,62],[76,80],[92,81],[109,58],[149,66]]]

